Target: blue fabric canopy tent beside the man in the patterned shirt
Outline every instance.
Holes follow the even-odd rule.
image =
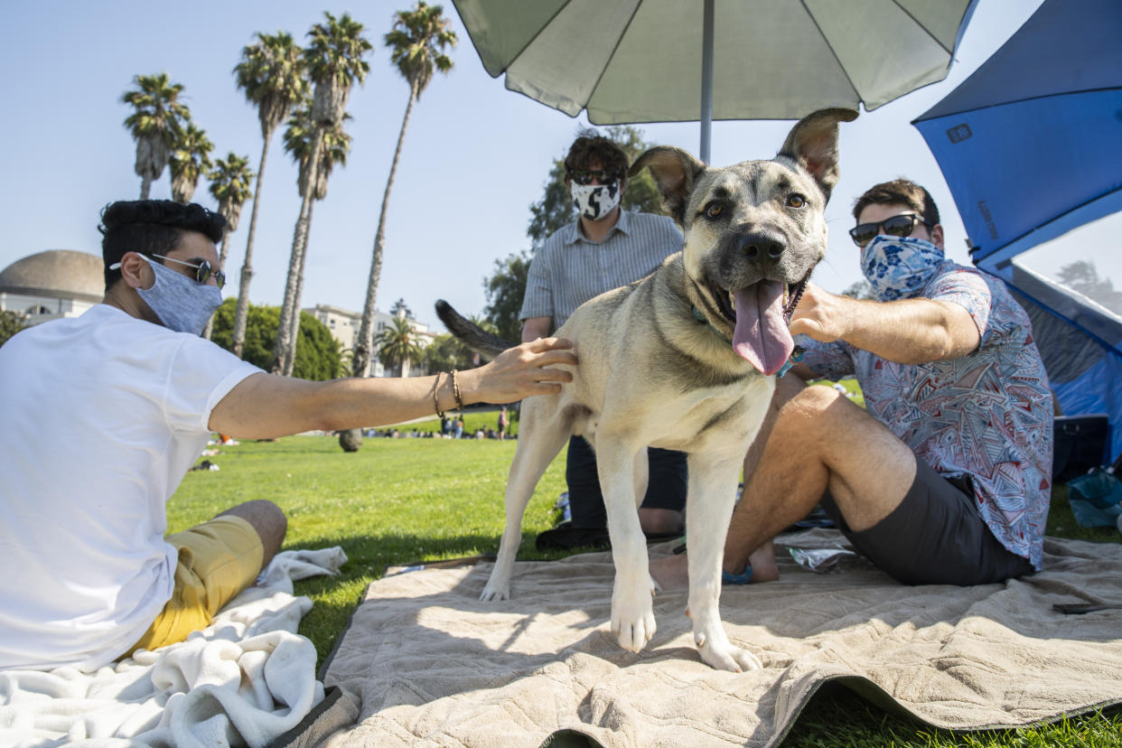
[[[1122,210],[1122,1],[1045,0],[912,123],[939,161],[974,264],[1029,311],[1064,413],[1107,414],[1115,459],[1122,317],[1014,258]]]

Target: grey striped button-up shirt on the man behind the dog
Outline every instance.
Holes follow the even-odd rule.
[[[586,239],[574,221],[534,255],[518,316],[553,317],[560,327],[588,299],[645,278],[681,248],[682,232],[664,215],[620,211],[599,243]]]

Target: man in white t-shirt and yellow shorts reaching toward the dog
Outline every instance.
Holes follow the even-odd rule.
[[[221,303],[226,221],[194,204],[102,213],[105,296],[0,348],[0,669],[91,671],[183,640],[248,587],[286,520],[254,500],[164,537],[165,504],[212,432],[269,438],[399,423],[458,404],[560,391],[571,343],[485,367],[312,382],[199,336]]]

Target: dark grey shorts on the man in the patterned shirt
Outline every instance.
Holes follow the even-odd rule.
[[[902,584],[988,584],[1033,571],[986,526],[968,477],[944,478],[921,460],[900,506],[868,529],[849,529],[828,492],[821,504],[853,546]]]

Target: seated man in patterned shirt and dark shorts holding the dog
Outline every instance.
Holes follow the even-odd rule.
[[[804,354],[778,382],[745,459],[725,581],[778,578],[771,538],[821,502],[854,546],[905,584],[984,584],[1040,569],[1052,399],[1024,310],[996,278],[942,255],[930,194],[907,179],[854,205],[876,295],[813,284],[792,315]],[[867,410],[817,377],[856,376]],[[652,566],[664,587],[684,558]]]

